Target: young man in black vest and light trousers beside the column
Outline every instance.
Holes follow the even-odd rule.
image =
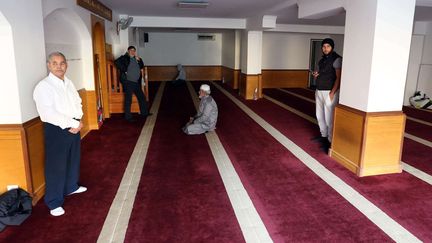
[[[328,153],[333,133],[333,112],[339,102],[339,87],[342,57],[334,49],[334,41],[326,38],[321,43],[323,57],[318,63],[319,71],[312,75],[316,78],[316,117],[321,132],[323,149]]]

